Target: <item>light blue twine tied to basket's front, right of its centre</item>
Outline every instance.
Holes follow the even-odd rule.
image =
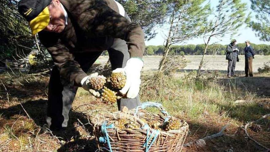
[[[145,148],[145,152],[148,152],[149,149],[151,148],[152,144],[156,141],[156,138],[160,134],[160,131],[155,130],[155,129],[152,129],[152,132],[149,135],[149,133],[150,133],[150,127],[147,124],[145,124],[144,127],[142,127],[142,129],[144,129],[144,130],[147,129],[147,131],[146,131],[146,141],[145,141],[145,144],[142,147]],[[148,142],[150,141],[150,139],[152,137],[153,137],[153,139],[152,139],[150,145],[148,146]]]

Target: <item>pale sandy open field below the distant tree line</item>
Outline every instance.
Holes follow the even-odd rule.
[[[143,71],[157,70],[159,61],[162,56],[144,56],[145,62]],[[184,70],[196,70],[199,67],[199,63],[202,56],[185,56],[188,60],[187,66]],[[99,63],[106,63],[108,56],[100,56],[98,58]],[[236,71],[245,71],[245,57],[239,56],[240,62],[236,64]],[[257,72],[259,67],[262,67],[265,62],[270,61],[270,56],[255,56],[253,59],[253,72]],[[205,56],[205,63],[202,70],[220,70],[227,71],[228,60],[225,60],[225,56]]]

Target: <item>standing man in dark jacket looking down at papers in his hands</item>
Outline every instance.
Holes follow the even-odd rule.
[[[238,59],[238,49],[236,47],[236,40],[233,39],[226,48],[226,60],[228,60],[228,78],[235,76],[235,66],[236,62],[239,62]]]

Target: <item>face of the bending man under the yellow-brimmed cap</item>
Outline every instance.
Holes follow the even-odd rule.
[[[50,22],[44,31],[61,33],[66,26],[66,21],[64,11],[59,0],[52,0],[48,5],[48,9],[50,13]]]

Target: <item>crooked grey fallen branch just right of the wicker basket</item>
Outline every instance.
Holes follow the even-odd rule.
[[[203,146],[206,145],[206,142],[205,142],[206,140],[217,138],[217,137],[225,135],[224,130],[228,126],[229,126],[229,124],[225,125],[224,127],[222,127],[221,131],[219,131],[216,134],[211,134],[211,135],[206,136],[204,138],[201,138],[201,139],[198,139],[198,140],[195,140],[195,141],[192,141],[192,142],[188,142],[188,143],[184,144],[184,147],[190,147],[191,145],[195,145],[195,146],[198,146],[198,147],[203,147]]]

